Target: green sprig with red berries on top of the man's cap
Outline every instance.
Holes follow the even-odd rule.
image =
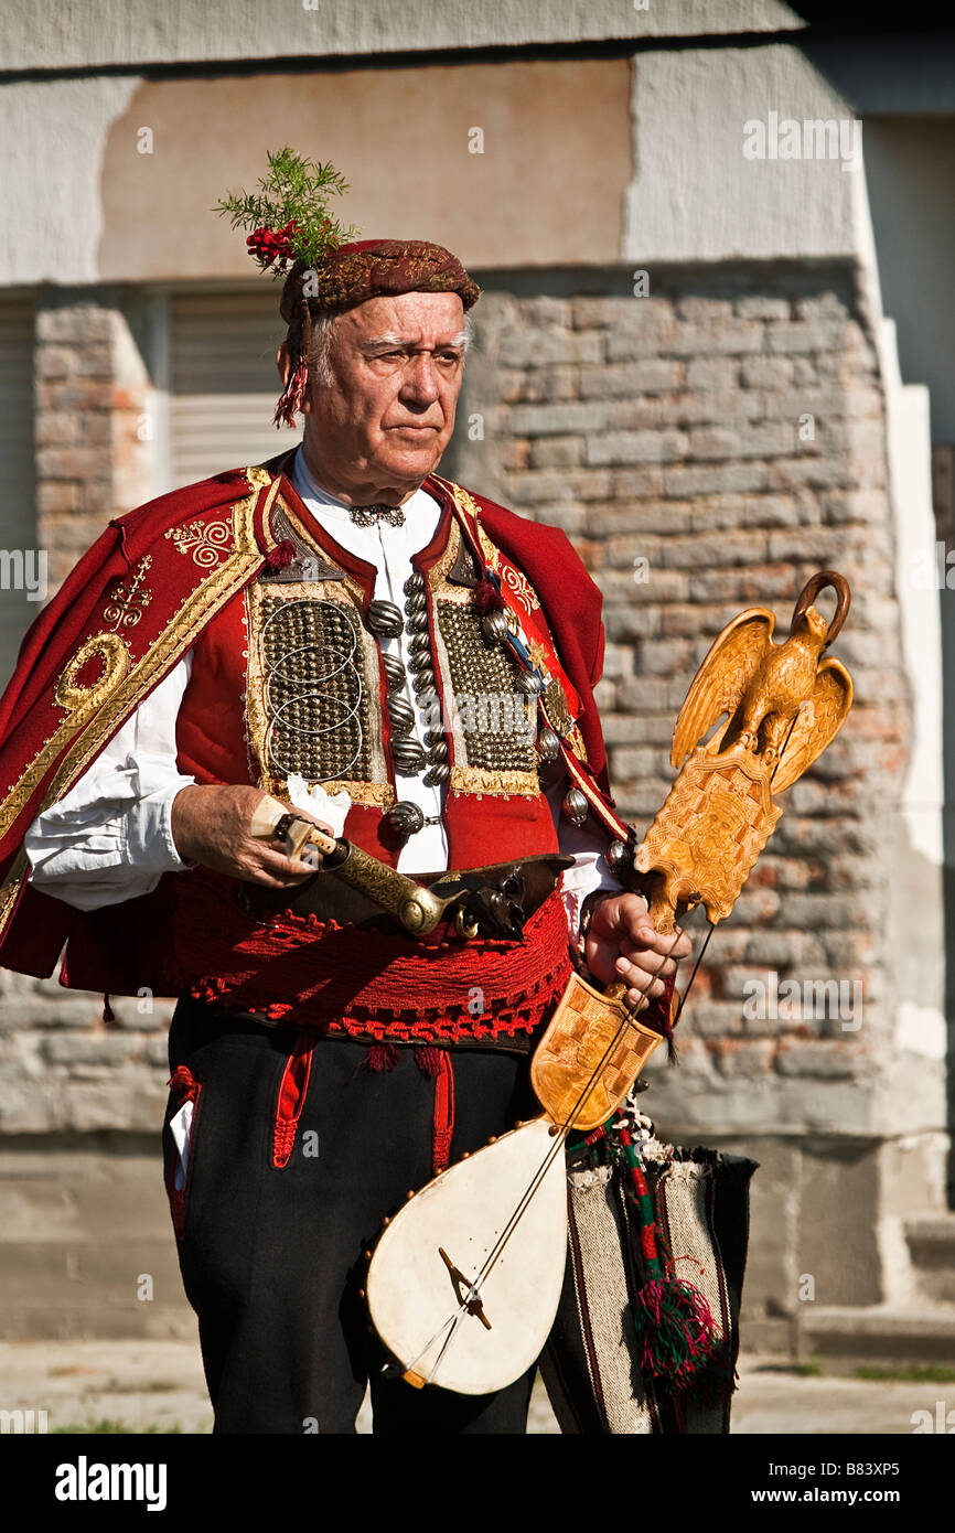
[[[213,212],[227,216],[233,228],[250,228],[245,244],[262,271],[284,276],[293,264],[317,267],[357,230],[343,225],[328,199],[348,192],[348,182],[331,161],[307,159],[285,146],[268,155],[268,175],[258,192],[230,193]]]

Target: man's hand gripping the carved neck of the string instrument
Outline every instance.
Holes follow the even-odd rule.
[[[687,958],[691,941],[679,927],[658,932],[639,894],[615,894],[593,911],[584,941],[584,957],[601,984],[624,980],[627,1004],[642,1012],[665,993],[664,981]]]

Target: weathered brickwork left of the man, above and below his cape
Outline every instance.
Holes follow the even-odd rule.
[[[51,590],[110,517],[152,494],[139,317],[135,296],[115,288],[37,294],[37,544],[48,550]],[[132,1131],[161,1121],[172,1009],[118,1001],[113,1030],[101,1013],[101,996],[0,969],[0,1134]]]

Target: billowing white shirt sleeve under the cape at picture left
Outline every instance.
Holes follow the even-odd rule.
[[[139,704],[71,791],[25,837],[37,889],[80,911],[150,894],[187,863],[172,839],[172,802],[195,783],[176,766],[176,714],[192,652]]]

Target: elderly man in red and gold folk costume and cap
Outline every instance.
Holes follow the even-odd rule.
[[[279,353],[302,448],[110,523],[25,641],[0,961],[49,973],[67,940],[64,983],[179,996],[166,1179],[218,1432],[353,1432],[368,1380],[376,1432],[523,1432],[530,1375],[478,1400],[382,1375],[362,1252],[532,1111],[584,915],[650,1019],[688,941],[604,858],[596,589],[563,533],[435,475],[475,284],[397,241],[305,276]],[[484,869],[523,938],[414,943],[251,834],[265,793],[403,872]]]

